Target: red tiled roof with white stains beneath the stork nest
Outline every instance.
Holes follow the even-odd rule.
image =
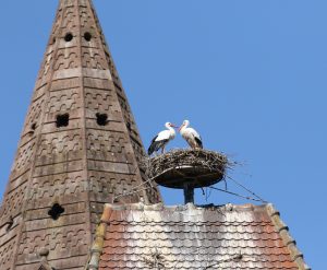
[[[106,204],[88,269],[310,269],[271,204]]]

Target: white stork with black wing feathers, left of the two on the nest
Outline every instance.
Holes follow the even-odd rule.
[[[160,131],[153,140],[152,144],[149,145],[147,153],[148,155],[152,155],[154,152],[157,152],[159,149],[161,149],[161,153],[165,153],[165,148],[167,143],[174,139],[175,131],[173,128],[175,126],[171,122],[166,122],[165,127],[166,130]]]

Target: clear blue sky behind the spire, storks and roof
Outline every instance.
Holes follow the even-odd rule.
[[[306,262],[326,269],[327,1],[95,4],[145,145],[167,120],[189,118],[207,149],[244,163],[232,177],[275,203]],[[1,3],[0,193],[56,8]],[[208,202],[245,201],[213,192]]]

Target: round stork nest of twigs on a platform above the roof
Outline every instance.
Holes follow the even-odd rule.
[[[223,179],[230,167],[227,156],[208,150],[172,150],[159,156],[146,159],[147,176],[158,185],[182,189],[208,187]]]

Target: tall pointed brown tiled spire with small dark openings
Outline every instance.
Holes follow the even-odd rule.
[[[90,0],[61,0],[0,212],[0,269],[84,269],[105,202],[158,202]]]

